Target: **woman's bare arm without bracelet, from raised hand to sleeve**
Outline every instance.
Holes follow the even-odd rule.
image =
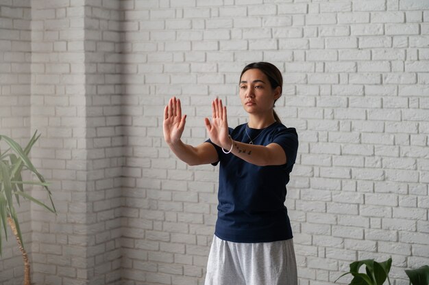
[[[180,100],[175,97],[169,100],[164,109],[164,139],[174,154],[188,165],[215,163],[218,155],[215,146],[204,142],[199,146],[184,144],[180,139],[186,123],[186,115],[182,117]]]

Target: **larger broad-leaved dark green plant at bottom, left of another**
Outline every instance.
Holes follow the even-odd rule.
[[[365,264],[366,273],[359,273],[359,269]],[[352,274],[354,277],[349,285],[382,285],[384,281],[389,282],[389,271],[392,265],[392,258],[384,262],[376,262],[373,259],[358,260],[350,264],[350,271],[344,273],[337,280],[347,274]],[[337,281],[335,280],[335,282]]]

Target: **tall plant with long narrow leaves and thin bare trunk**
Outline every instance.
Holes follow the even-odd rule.
[[[16,213],[14,203],[20,205],[20,198],[30,200],[40,206],[43,206],[48,211],[56,213],[56,208],[53,205],[51,198],[51,191],[48,189],[48,184],[45,178],[37,171],[36,167],[28,158],[28,154],[32,146],[36,143],[40,135],[37,131],[29,140],[25,148],[16,143],[10,137],[0,135],[0,142],[4,141],[8,145],[8,150],[1,152],[0,150],[0,255],[1,255],[1,231],[5,233],[6,240],[8,239],[7,225],[10,226],[16,241],[18,242],[19,249],[24,260],[24,285],[31,285],[30,266],[27,252],[25,251],[21,230],[19,228],[18,213]],[[23,180],[23,172],[28,171],[35,174],[37,180],[26,181]],[[51,200],[51,207],[45,203],[40,202],[33,198],[29,193],[24,191],[25,185],[40,185],[48,193]]]

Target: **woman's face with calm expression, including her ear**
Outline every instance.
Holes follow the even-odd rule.
[[[267,76],[256,68],[244,72],[240,79],[241,104],[247,113],[272,113],[280,90],[280,87],[271,88]]]

